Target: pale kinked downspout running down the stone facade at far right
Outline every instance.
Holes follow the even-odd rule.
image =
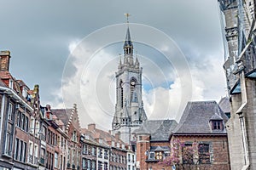
[[[241,139],[242,139],[242,147],[243,147],[243,151],[244,151],[244,162],[245,165],[241,168],[242,170],[246,170],[249,165],[249,159],[248,159],[248,150],[247,150],[247,132],[246,132],[246,128],[245,128],[245,122],[244,122],[244,116],[242,114],[243,109],[245,108],[245,106],[247,105],[247,88],[246,88],[246,82],[245,82],[245,75],[244,75],[244,71],[241,71],[241,89],[243,89],[243,93],[241,93],[241,101],[242,104],[239,107],[239,109],[236,111],[236,114],[239,115],[239,119],[240,119],[240,126],[241,126]]]

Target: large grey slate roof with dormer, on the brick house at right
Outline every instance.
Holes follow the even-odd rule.
[[[210,120],[228,121],[216,101],[188,102],[174,134],[226,134],[225,129],[212,131]]]

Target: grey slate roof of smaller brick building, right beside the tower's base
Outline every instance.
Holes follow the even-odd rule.
[[[148,133],[150,141],[168,141],[176,126],[175,120],[148,120],[133,133]]]

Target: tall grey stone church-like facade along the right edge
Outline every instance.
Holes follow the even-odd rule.
[[[230,100],[227,132],[232,169],[256,168],[255,1],[219,0],[224,35],[224,71]]]

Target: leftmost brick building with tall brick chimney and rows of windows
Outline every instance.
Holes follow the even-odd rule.
[[[37,116],[38,85],[30,90],[9,72],[10,52],[0,52],[1,161],[2,169],[37,169],[38,150],[28,150],[29,141],[39,140],[30,134],[30,120]],[[35,130],[35,129],[33,129]],[[38,129],[39,130],[39,129]],[[34,133],[35,134],[35,133]]]

